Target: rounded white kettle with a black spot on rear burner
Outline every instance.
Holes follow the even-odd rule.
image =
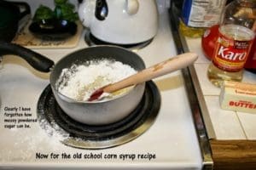
[[[115,44],[146,42],[158,29],[154,0],[84,0],[79,19],[93,37]]]

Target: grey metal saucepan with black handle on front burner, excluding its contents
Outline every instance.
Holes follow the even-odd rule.
[[[56,88],[56,82],[63,69],[70,68],[73,64],[83,64],[85,61],[91,59],[115,59],[124,64],[131,65],[137,71],[143,70],[145,68],[143,59],[125,48],[114,46],[84,48],[68,54],[56,64],[41,54],[8,42],[0,42],[1,54],[19,55],[23,59],[26,59],[38,71],[51,71],[49,82],[58,105],[60,105],[61,109],[68,116],[78,122],[90,125],[118,122],[125,118],[125,116],[128,116],[137,107],[143,97],[145,83],[137,84],[128,94],[121,95],[118,98],[94,102],[77,101],[67,98],[60,94]]]

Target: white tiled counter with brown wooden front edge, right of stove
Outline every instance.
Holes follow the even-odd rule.
[[[213,160],[213,169],[255,169],[256,168],[256,114],[239,111],[225,111],[220,108],[220,88],[216,88],[207,79],[207,67],[210,60],[201,49],[201,38],[184,37],[178,31],[177,8],[172,5],[170,10],[172,32],[175,37],[178,53],[192,51],[199,54],[194,65],[189,66],[189,75],[193,82],[196,99],[201,113],[202,124],[197,126],[197,132],[207,130],[207,134],[199,135],[203,141],[207,135],[207,153],[210,150]],[[175,25],[173,25],[175,23]],[[245,71],[242,82],[256,83],[256,75]],[[195,103],[195,105],[197,104]],[[195,119],[196,120],[196,119]]]

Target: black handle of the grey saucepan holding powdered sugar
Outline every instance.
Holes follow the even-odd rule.
[[[5,54],[15,54],[20,56],[22,59],[25,59],[28,64],[32,65],[33,68],[42,72],[49,72],[55,64],[54,61],[31,49],[21,47],[14,43],[0,42],[0,55]]]

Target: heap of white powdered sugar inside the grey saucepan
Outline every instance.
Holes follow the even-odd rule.
[[[98,88],[118,82],[137,71],[130,65],[110,59],[90,60],[63,69],[56,82],[58,91],[71,98],[86,101]]]

